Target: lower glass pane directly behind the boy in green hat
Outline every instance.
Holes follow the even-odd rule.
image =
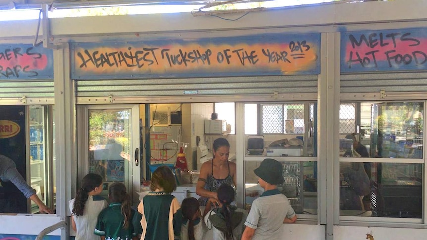
[[[263,192],[254,169],[261,161],[245,163],[245,208],[250,210],[252,202]],[[317,162],[282,162],[285,182],[278,189],[290,201],[297,214],[317,214]]]

